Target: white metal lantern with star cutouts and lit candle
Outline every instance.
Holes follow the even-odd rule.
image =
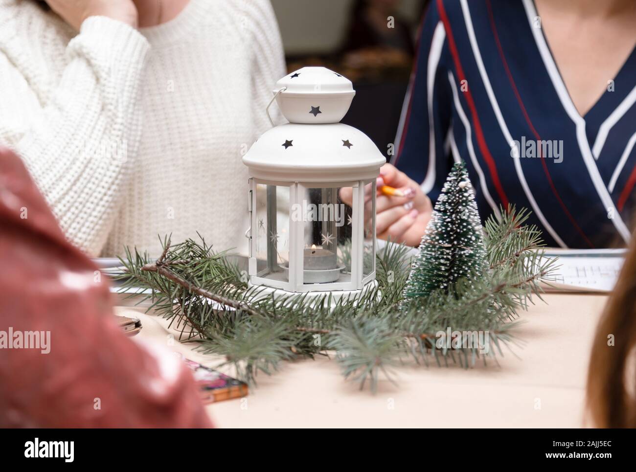
[[[375,284],[375,181],[385,158],[367,135],[339,123],[356,92],[324,67],[303,67],[273,92],[290,123],[265,132],[243,157],[250,282],[296,293],[361,291]]]

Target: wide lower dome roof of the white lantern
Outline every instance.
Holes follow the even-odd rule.
[[[366,134],[343,123],[273,127],[243,156],[251,176],[286,182],[375,179],[385,162]]]

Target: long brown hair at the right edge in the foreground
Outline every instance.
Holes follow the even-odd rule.
[[[636,235],[598,323],[588,370],[593,426],[636,427]]]

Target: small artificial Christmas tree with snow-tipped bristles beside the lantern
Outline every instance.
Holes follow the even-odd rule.
[[[446,178],[411,266],[401,306],[438,289],[452,291],[458,279],[479,277],[486,270],[483,228],[462,161],[453,165]]]

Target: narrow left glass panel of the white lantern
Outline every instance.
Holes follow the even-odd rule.
[[[256,273],[258,277],[288,282],[289,187],[257,183],[255,190]]]

